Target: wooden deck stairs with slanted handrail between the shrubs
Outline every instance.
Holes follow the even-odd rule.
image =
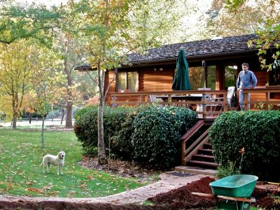
[[[212,123],[213,121],[198,120],[183,135],[181,138],[182,166],[175,167],[175,170],[186,172],[184,169],[188,168],[205,171],[206,169],[215,170],[218,167],[214,161],[213,149],[209,143],[209,130]]]

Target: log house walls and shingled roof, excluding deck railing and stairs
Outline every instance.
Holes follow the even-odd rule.
[[[130,65],[122,66],[117,71],[106,72],[105,89],[111,80],[116,78],[109,87],[106,102],[111,104],[112,94],[116,92],[172,91],[176,58],[180,49],[186,52],[193,90],[199,87],[227,90],[229,86],[235,86],[243,62],[247,62],[249,69],[255,73],[258,78],[258,87],[266,87],[272,83],[274,87],[275,85],[280,87],[280,78],[275,81],[272,72],[269,73],[260,68],[258,49],[248,48],[247,42],[254,38],[257,38],[255,34],[212,38],[163,45],[161,48],[148,50],[145,55],[130,54],[128,55]],[[89,68],[90,66],[79,66],[76,69]],[[114,77],[115,74],[116,77]],[[120,98],[119,95],[118,99]],[[125,98],[124,94],[124,101]],[[280,94],[272,92],[269,98],[280,99]],[[252,93],[251,99],[265,99],[265,93]]]

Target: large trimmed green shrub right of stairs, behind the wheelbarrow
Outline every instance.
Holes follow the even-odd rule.
[[[235,172],[279,181],[275,169],[280,162],[280,111],[223,113],[211,126],[209,138],[221,167],[230,163]]]

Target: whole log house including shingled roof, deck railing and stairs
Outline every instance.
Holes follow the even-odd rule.
[[[199,117],[200,120],[197,124],[181,138],[182,165],[216,168],[217,164],[214,162],[214,155],[209,144],[209,125],[221,111],[228,111],[230,108],[228,106],[228,87],[236,86],[242,63],[248,63],[249,69],[255,73],[258,79],[258,88],[244,90],[245,93],[251,93],[251,101],[247,101],[247,105],[264,103],[265,109],[268,109],[269,104],[273,104],[274,108],[280,104],[280,69],[267,72],[260,68],[258,49],[248,48],[247,44],[254,38],[257,38],[255,34],[212,38],[163,45],[161,48],[148,50],[145,55],[130,54],[128,55],[130,65],[106,72],[105,89],[116,76],[116,80],[109,87],[106,102],[111,105],[144,104],[152,102],[151,99],[148,100],[149,97],[158,96],[167,99],[158,102],[159,105],[168,106],[174,103],[188,107],[195,104],[196,108],[199,107],[198,105],[202,106],[202,110],[197,111],[196,109],[202,117]],[[176,59],[180,49],[186,52],[193,90],[172,90]],[[79,66],[76,69],[90,70],[90,66]],[[200,87],[208,87],[210,90],[198,90]],[[197,94],[202,95],[199,101],[194,99]],[[207,102],[207,99],[203,97],[207,94],[210,95],[210,98],[211,95],[221,95],[221,100]],[[193,100],[188,100],[187,97],[192,95],[195,95]],[[246,103],[244,101],[244,104]],[[223,109],[213,111],[212,105],[220,105]],[[201,132],[202,135],[186,148],[186,141],[205,126],[207,130]]]

